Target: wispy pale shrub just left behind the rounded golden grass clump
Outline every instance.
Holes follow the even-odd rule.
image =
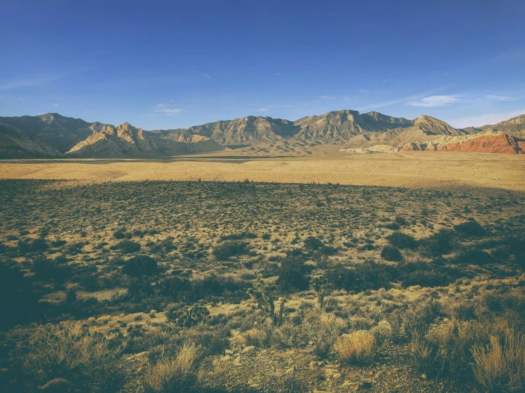
[[[312,314],[303,323],[303,332],[312,342],[312,353],[319,358],[328,358],[332,347],[340,336],[344,323],[332,314]]]

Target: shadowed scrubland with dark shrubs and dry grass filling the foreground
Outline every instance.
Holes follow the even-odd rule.
[[[525,195],[0,182],[2,392],[524,392]]]

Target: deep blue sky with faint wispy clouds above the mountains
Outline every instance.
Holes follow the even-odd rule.
[[[0,116],[525,113],[525,1],[0,0]]]

